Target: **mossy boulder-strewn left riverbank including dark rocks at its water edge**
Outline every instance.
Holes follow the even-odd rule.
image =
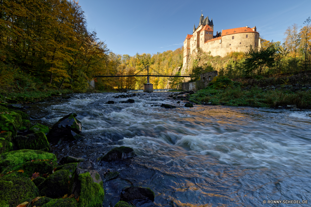
[[[20,111],[22,107],[8,106],[0,106],[0,206],[102,206],[103,181],[119,173],[107,170],[100,176],[88,160],[71,156],[57,160],[51,153],[50,143],[83,139],[77,115],[68,114],[49,128],[30,124],[29,115]],[[119,147],[100,160],[111,162],[135,155],[132,148]],[[133,200],[154,198],[149,188],[127,187],[115,206],[132,206]]]

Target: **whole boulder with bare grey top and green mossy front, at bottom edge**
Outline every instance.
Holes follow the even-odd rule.
[[[76,169],[69,186],[68,194],[79,198],[78,206],[101,207],[104,201],[103,181],[95,170]]]

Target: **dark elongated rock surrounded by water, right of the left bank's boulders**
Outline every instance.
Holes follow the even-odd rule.
[[[112,150],[110,150],[103,158],[101,158],[102,161],[112,161],[112,160],[118,160],[118,159],[127,159],[130,157],[135,156],[135,152],[130,147],[115,147]]]

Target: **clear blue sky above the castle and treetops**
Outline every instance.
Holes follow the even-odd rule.
[[[88,28],[117,54],[154,54],[183,45],[201,10],[213,18],[216,31],[257,27],[266,40],[283,42],[286,28],[303,26],[311,16],[311,0],[301,1],[102,1],[79,0]]]

